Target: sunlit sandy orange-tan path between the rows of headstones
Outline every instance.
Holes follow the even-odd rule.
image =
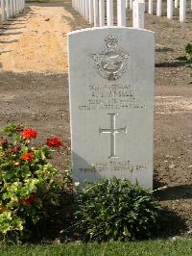
[[[67,70],[66,34],[73,19],[63,7],[31,6],[1,31],[2,69],[13,72],[56,72]],[[5,32],[4,32],[5,31]]]

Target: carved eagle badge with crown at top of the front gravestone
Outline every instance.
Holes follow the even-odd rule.
[[[118,38],[109,36],[105,39],[106,45],[100,54],[93,54],[98,72],[108,80],[117,80],[127,69],[129,54],[124,54],[118,47]]]

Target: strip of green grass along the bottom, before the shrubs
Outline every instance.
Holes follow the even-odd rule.
[[[1,246],[1,256],[190,256],[192,240],[141,243],[68,243],[33,246]]]

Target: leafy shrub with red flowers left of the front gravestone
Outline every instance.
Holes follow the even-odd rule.
[[[47,159],[48,146],[60,147],[58,138],[48,146],[31,145],[36,131],[11,124],[0,140],[0,242],[18,243],[42,235],[50,215],[47,207],[60,204],[58,170]],[[69,181],[66,175],[64,182]]]

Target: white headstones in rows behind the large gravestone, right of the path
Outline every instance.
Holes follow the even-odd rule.
[[[192,0],[148,0],[146,2],[145,0],[72,0],[72,5],[77,12],[81,13],[95,27],[112,26],[114,24],[114,5],[117,8],[117,25],[125,26],[126,19],[128,19],[127,11],[132,10],[133,27],[137,25],[135,21],[137,18],[141,20],[141,25],[144,25],[145,12],[161,16],[162,10],[165,9],[168,19],[172,19],[176,12],[179,13],[180,22],[185,22],[187,13],[192,10]],[[147,8],[145,8],[145,5]]]

